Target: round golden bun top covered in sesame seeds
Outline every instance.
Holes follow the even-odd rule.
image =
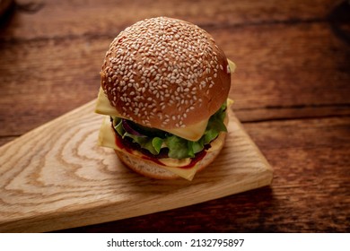
[[[212,36],[167,17],[121,31],[101,70],[110,105],[127,119],[159,129],[208,119],[227,99],[230,86],[227,58]]]

